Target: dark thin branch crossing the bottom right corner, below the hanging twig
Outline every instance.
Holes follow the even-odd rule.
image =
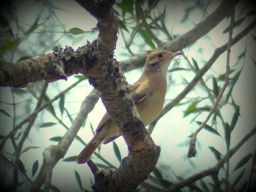
[[[168,189],[166,189],[165,191],[168,191],[168,192],[172,192],[172,191],[178,191],[180,190],[181,188],[183,187],[186,187],[188,186],[189,184],[199,180],[199,179],[202,179],[208,175],[211,175],[211,174],[216,174],[219,172],[219,170],[221,169],[221,167],[226,163],[228,162],[228,160],[236,153],[236,151],[247,141],[249,140],[254,134],[256,133],[256,127],[254,127],[252,129],[252,131],[250,131],[249,133],[247,133],[245,135],[245,137],[239,142],[237,143],[237,145],[233,148],[233,149],[230,149],[228,151],[228,153],[223,156],[219,161],[218,163],[211,167],[210,169],[207,169],[207,170],[204,170],[204,171],[201,171],[197,174],[194,174],[193,176],[189,177],[188,179],[185,179],[175,185],[172,185],[171,187],[169,187]]]

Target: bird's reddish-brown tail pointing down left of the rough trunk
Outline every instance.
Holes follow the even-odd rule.
[[[104,137],[99,138],[99,134],[95,134],[89,143],[85,146],[85,148],[81,151],[76,159],[76,163],[83,164],[89,161],[94,151],[100,146]]]

